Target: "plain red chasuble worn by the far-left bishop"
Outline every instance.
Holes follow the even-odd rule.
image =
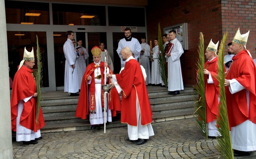
[[[17,105],[19,100],[23,100],[37,92],[35,78],[32,75],[33,70],[22,66],[15,74],[13,79],[13,89],[11,96],[11,120],[12,130],[16,131]],[[37,113],[37,98],[31,97],[26,103],[20,117],[19,124],[37,132],[37,130],[44,127],[44,117],[42,109],[40,108],[38,121],[35,123]]]

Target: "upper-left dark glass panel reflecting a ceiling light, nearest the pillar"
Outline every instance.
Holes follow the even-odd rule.
[[[49,3],[5,1],[5,15],[6,23],[50,24]]]

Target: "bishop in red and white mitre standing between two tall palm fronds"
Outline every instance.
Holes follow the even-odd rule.
[[[218,43],[219,41],[216,44],[213,43],[211,39],[204,54],[208,59],[208,61],[204,64],[203,70],[205,82],[206,122],[208,128],[208,136],[212,137],[220,135],[216,127],[216,116],[219,112],[219,82],[216,78],[218,69]]]

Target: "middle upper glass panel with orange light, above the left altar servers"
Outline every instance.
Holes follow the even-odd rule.
[[[54,25],[106,25],[105,6],[53,3],[52,7]]]

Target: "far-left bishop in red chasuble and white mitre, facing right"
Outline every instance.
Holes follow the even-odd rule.
[[[11,96],[12,130],[16,131],[16,141],[23,144],[37,144],[42,139],[40,129],[44,127],[44,117],[40,107],[38,123],[35,121],[37,113],[37,86],[33,75],[35,65],[34,51],[24,50],[23,60],[13,79]]]

